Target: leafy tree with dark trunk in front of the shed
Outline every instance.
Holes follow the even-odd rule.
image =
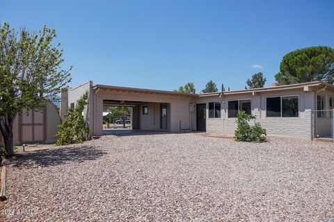
[[[42,110],[70,82],[70,69],[61,69],[63,50],[54,44],[54,29],[15,31],[0,25],[0,130],[6,156],[14,155],[13,122],[17,113]]]

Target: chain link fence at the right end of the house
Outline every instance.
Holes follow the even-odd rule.
[[[334,110],[311,110],[310,139],[333,139]]]

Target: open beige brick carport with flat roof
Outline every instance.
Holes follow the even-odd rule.
[[[193,130],[196,116],[193,109],[196,94],[185,94],[153,89],[138,89],[110,85],[91,87],[93,95],[94,135],[103,134],[104,105],[128,106],[132,108],[132,129],[180,132]]]

